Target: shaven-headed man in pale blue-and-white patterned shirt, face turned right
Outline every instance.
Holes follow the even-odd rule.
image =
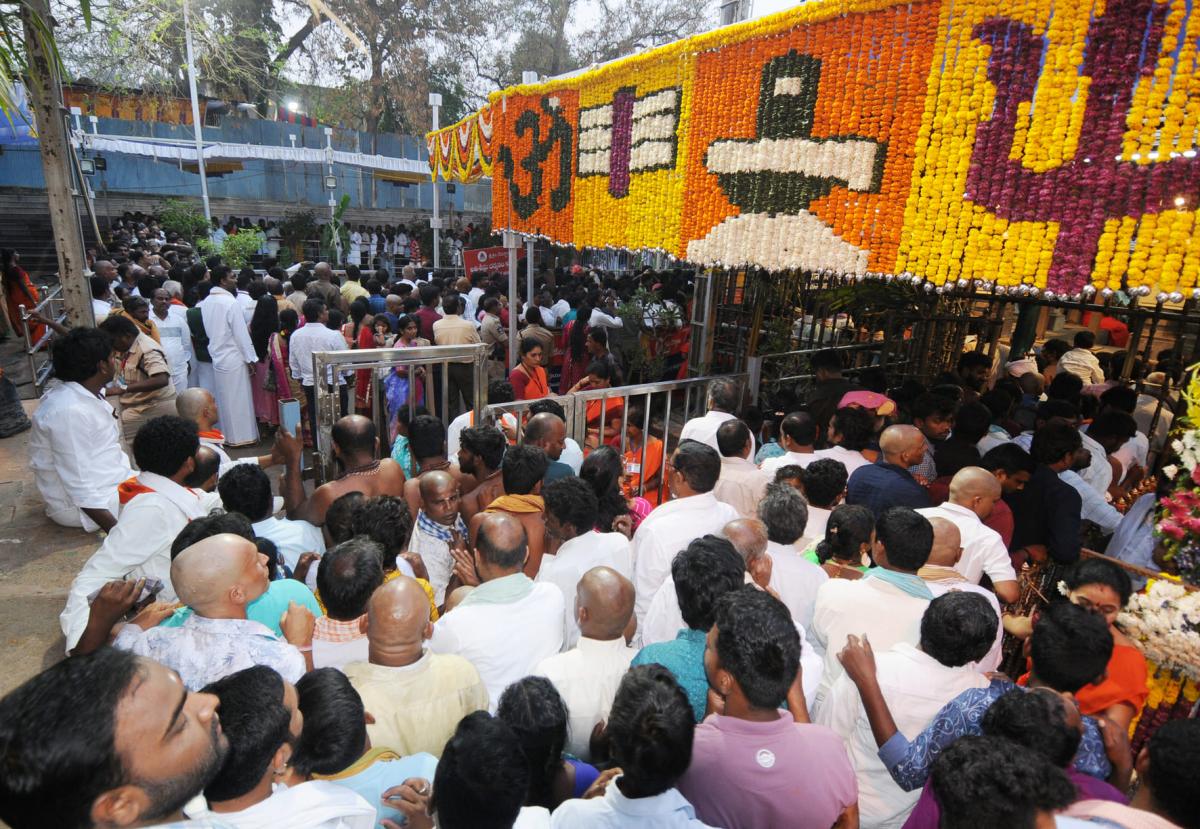
[[[166,665],[192,691],[254,665],[274,668],[289,683],[312,668],[308,608],[288,606],[282,638],[246,618],[246,605],[268,585],[266,557],[253,541],[229,533],[204,539],[175,557],[170,582],[192,615],[179,627],[128,624],[114,647]]]

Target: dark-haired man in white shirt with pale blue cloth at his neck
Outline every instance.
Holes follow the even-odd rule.
[[[917,575],[934,547],[929,519],[906,506],[884,510],[875,524],[876,567],[865,578],[830,578],[817,591],[809,638],[824,651],[824,675],[814,707],[820,709],[842,674],[838,653],[850,635],[866,636],[872,647],[920,642],[920,618],[934,594]]]

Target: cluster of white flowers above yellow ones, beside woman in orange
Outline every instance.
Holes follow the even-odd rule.
[[[1152,581],[1129,599],[1117,624],[1152,662],[1200,681],[1200,593]]]

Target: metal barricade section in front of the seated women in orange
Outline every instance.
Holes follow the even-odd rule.
[[[566,415],[566,434],[581,446],[604,445],[614,438],[619,438],[619,449],[616,446],[614,449],[622,456],[626,471],[630,471],[636,465],[638,477],[636,494],[638,495],[643,495],[647,492],[647,477],[641,474],[641,470],[647,468],[646,461],[653,437],[652,433],[655,431],[655,425],[660,423],[661,426],[658,431],[661,432],[661,458],[659,459],[658,470],[650,477],[652,480],[656,479],[652,488],[656,491],[659,503],[662,503],[670,494],[667,492],[667,479],[664,469],[666,461],[671,457],[672,450],[679,444],[679,432],[683,429],[684,423],[692,417],[703,415],[707,410],[708,384],[716,379],[737,380],[742,383],[743,395],[749,391],[750,376],[740,373],[577,391],[572,395],[552,397],[551,400],[557,401],[563,407],[563,412]],[[494,422],[504,414],[516,414],[520,434],[520,429],[523,427],[523,414],[536,402],[517,401],[515,403],[496,403],[487,407],[485,419]],[[594,419],[590,419],[595,422],[593,427],[589,423],[588,409],[589,404],[596,402],[599,402],[599,407],[590,406],[592,412],[596,414]],[[634,406],[637,406],[642,413],[641,422],[635,422],[635,426],[642,433],[642,446],[631,457],[626,457],[630,453],[629,410]],[[619,429],[616,429],[618,434],[606,440],[604,429],[610,427],[611,421],[614,420],[614,416],[610,417],[610,413],[618,410],[620,413],[620,426]],[[592,434],[593,432],[594,434]]]

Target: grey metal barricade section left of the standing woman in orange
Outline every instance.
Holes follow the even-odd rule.
[[[472,366],[472,397],[470,407],[480,415],[484,410],[487,397],[487,355],[491,352],[488,346],[418,346],[414,348],[364,348],[344,352],[316,352],[312,355],[313,378],[317,380],[313,388],[313,398],[317,408],[317,434],[314,435],[317,446],[317,476],[320,482],[331,481],[336,476],[334,463],[334,423],[344,414],[341,407],[337,385],[329,382],[330,372],[346,376],[347,385],[352,392],[354,389],[355,371],[370,370],[376,377],[372,378],[371,413],[379,434],[380,449],[386,450],[389,443],[390,419],[386,401],[382,394],[382,383],[378,379],[379,368],[395,370],[407,367],[409,378],[415,377],[418,368],[424,368],[422,383],[425,385],[425,400],[437,401],[436,410],[431,413],[438,415],[443,423],[449,426],[449,371],[450,365],[468,364]],[[434,372],[434,368],[438,371]],[[434,374],[438,382],[434,383]],[[440,388],[434,388],[436,385]],[[408,395],[407,406],[409,413],[416,407],[416,395]],[[434,394],[437,392],[437,394]],[[428,408],[428,407],[427,407]],[[386,455],[386,452],[384,452]]]

